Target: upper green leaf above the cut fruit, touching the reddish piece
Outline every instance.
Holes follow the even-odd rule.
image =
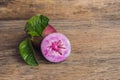
[[[43,30],[48,25],[49,19],[43,15],[36,15],[30,18],[26,25],[25,31],[31,36],[41,36]]]

